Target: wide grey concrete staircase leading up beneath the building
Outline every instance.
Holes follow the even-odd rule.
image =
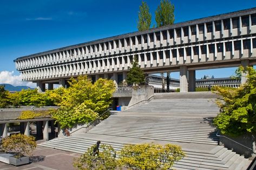
[[[172,143],[186,153],[174,169],[246,169],[250,160],[218,146],[212,125],[213,117],[219,113],[216,97],[210,92],[155,94],[148,104],[114,113],[88,133],[40,145],[82,154],[97,140],[116,151],[124,144]]]

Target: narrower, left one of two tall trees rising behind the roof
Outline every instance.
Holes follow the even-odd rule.
[[[139,31],[149,30],[151,24],[151,13],[146,2],[142,1],[139,11],[139,21],[137,22],[137,28]]]

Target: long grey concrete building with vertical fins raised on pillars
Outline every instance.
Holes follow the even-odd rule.
[[[71,45],[19,57],[24,81],[39,91],[65,86],[88,74],[93,80],[126,78],[134,56],[149,73],[180,72],[180,91],[195,91],[195,70],[251,66],[256,63],[256,8],[195,19],[170,26]],[[242,75],[241,83],[246,81]]]

